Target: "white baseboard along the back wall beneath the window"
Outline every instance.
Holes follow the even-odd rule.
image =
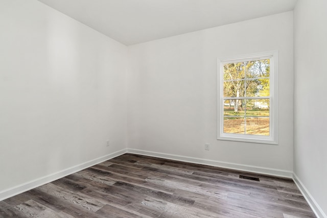
[[[139,154],[139,155],[147,155],[151,157],[159,157],[159,158],[166,158],[171,160],[179,160],[184,162],[190,163],[199,163],[209,166],[218,166],[222,168],[228,169],[236,169],[238,171],[246,171],[251,173],[258,173],[258,174],[265,174],[277,177],[284,177],[284,178],[293,178],[293,172],[291,171],[284,171],[282,169],[274,169],[274,168],[266,168],[266,167],[258,167],[258,166],[251,166],[245,164],[237,164],[237,163],[229,163],[223,161],[216,161],[216,160],[208,160],[208,159],[201,159],[201,158],[194,158],[194,157],[187,157],[187,156],[180,156],[180,155],[173,155],[173,154],[165,154],[159,152],[151,152],[151,151],[144,151],[144,150],[137,150],[137,149],[127,149],[127,153],[132,154]]]

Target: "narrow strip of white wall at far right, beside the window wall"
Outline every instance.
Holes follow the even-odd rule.
[[[327,217],[326,10],[325,0],[299,0],[294,9],[294,173],[324,211],[324,217]]]

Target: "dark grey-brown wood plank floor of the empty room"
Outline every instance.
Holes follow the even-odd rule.
[[[0,217],[315,215],[291,179],[124,154],[1,201]]]

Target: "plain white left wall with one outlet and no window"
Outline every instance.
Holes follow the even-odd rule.
[[[0,2],[0,192],[126,149],[126,55],[40,2]]]

